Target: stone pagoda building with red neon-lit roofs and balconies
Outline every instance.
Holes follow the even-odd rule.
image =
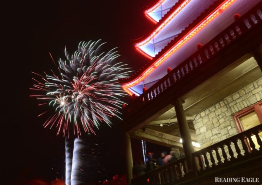
[[[134,45],[148,63],[119,79],[136,95],[119,125],[128,184],[212,184],[228,176],[261,184],[261,10],[261,0],[160,0],[144,11],[154,26]],[[179,155],[133,178],[132,140]]]

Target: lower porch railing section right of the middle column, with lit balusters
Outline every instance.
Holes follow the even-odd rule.
[[[261,131],[262,124],[195,152],[198,174],[262,155]]]

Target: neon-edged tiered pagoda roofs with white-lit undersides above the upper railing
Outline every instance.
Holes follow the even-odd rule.
[[[172,1],[174,2],[176,1]],[[152,32],[135,44],[138,52],[148,57],[149,62],[143,66],[141,72],[121,79],[123,89],[128,94],[142,94],[143,87],[149,88],[161,79],[168,67],[177,67],[195,53],[198,43],[205,45],[232,24],[233,12],[243,15],[258,2],[259,0],[177,1],[170,9],[167,8],[168,12],[162,12],[156,11],[165,3],[160,1],[151,9],[155,9],[155,14],[166,14],[153,27]],[[168,5],[170,7],[172,4]],[[145,14],[150,16],[150,13]]]

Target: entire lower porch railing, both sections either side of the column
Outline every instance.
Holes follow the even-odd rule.
[[[148,181],[154,185],[177,184],[223,171],[235,164],[262,156],[261,137],[262,124],[193,153],[192,157],[197,164],[193,176],[187,171],[185,158],[181,158],[132,179],[131,184],[144,185]]]

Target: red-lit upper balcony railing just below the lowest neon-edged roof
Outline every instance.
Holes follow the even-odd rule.
[[[127,105],[127,107],[123,109],[124,117],[127,118],[137,112],[141,107],[156,99],[156,97],[188,76],[192,71],[208,63],[208,61],[212,60],[214,56],[218,55],[227,46],[231,45],[240,37],[244,37],[250,30],[255,29],[255,27],[262,22],[261,6],[262,2],[241,16],[239,20],[232,23],[223,32],[214,37],[132,103]]]

